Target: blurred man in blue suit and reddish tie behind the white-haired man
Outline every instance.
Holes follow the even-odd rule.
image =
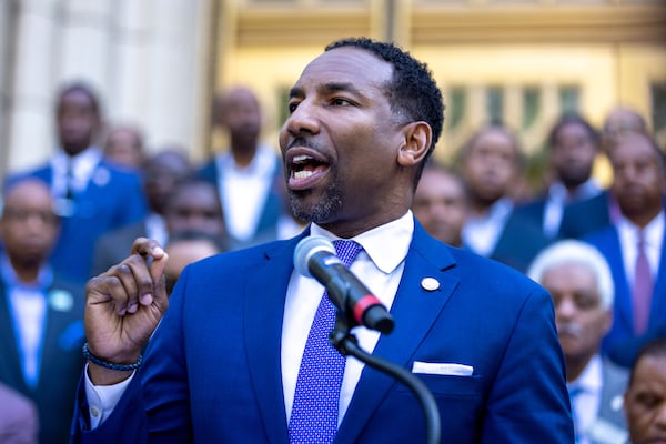
[[[608,261],[615,281],[615,314],[603,351],[629,367],[638,349],[666,331],[666,160],[656,143],[638,132],[618,137],[609,153],[614,181],[610,188],[622,215],[584,238]],[[637,272],[640,245],[645,276]],[[638,300],[636,291],[649,283],[652,291]]]

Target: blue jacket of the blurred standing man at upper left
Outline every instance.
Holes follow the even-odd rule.
[[[24,176],[53,183],[51,165],[23,173]],[[75,212],[63,218],[58,242],[51,254],[51,264],[62,276],[84,283],[91,275],[92,255],[98,238],[113,229],[141,220],[147,212],[145,199],[137,174],[101,162],[88,186],[75,195]]]

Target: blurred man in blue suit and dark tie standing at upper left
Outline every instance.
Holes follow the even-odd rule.
[[[139,176],[107,163],[94,145],[100,109],[89,87],[73,83],[60,91],[57,125],[61,149],[48,164],[16,174],[8,183],[34,176],[49,184],[62,219],[51,263],[64,278],[82,283],[90,278],[98,238],[140,221],[145,200]]]

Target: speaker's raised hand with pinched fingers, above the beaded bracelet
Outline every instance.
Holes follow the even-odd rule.
[[[169,307],[167,260],[157,241],[138,238],[129,258],[88,281],[84,323],[91,354],[114,364],[137,361]],[[89,376],[98,385],[117,383],[129,374],[89,365]]]

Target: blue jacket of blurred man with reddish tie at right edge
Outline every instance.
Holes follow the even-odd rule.
[[[615,225],[588,234],[584,241],[596,246],[608,261],[615,284],[614,319],[610,332],[604,337],[602,351],[614,362],[628,367],[638,349],[650,339],[666,331],[666,236],[662,243],[662,260],[655,280],[647,332],[634,333],[632,289],[625,272],[619,234]]]

